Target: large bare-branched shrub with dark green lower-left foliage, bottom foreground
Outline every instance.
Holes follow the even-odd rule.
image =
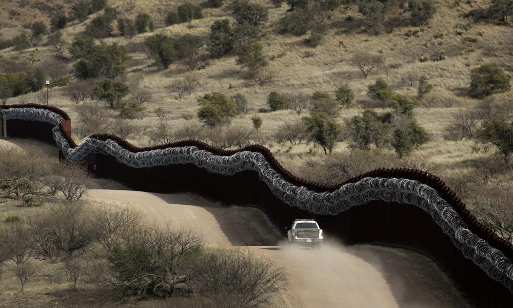
[[[134,294],[171,296],[178,283],[188,281],[188,259],[198,251],[201,238],[190,230],[151,225],[115,249],[109,257],[114,269],[111,287]],[[144,252],[134,255],[136,252]],[[150,288],[151,286],[151,288]]]

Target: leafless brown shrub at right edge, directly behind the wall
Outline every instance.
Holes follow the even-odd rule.
[[[512,196],[510,187],[485,189],[476,196],[475,206],[478,219],[509,242],[513,241]]]

